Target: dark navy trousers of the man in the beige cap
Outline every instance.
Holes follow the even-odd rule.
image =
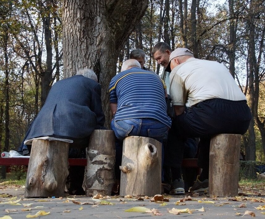
[[[176,116],[173,126],[180,148],[184,148],[186,138],[200,138],[198,164],[207,171],[211,137],[222,133],[245,134],[250,119],[251,112],[246,100],[209,99],[191,107],[186,113]],[[178,155],[179,158],[181,156],[183,155]]]

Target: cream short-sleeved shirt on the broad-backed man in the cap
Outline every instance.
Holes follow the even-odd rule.
[[[189,58],[173,68],[169,79],[173,105],[191,107],[213,98],[246,99],[229,70],[218,62]]]

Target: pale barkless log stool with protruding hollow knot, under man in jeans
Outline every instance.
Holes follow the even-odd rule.
[[[123,140],[120,196],[161,194],[161,143],[130,136]]]

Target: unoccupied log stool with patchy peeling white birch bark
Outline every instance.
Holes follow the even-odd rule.
[[[83,189],[91,194],[111,195],[114,184],[115,135],[112,130],[94,130],[87,148]]]

